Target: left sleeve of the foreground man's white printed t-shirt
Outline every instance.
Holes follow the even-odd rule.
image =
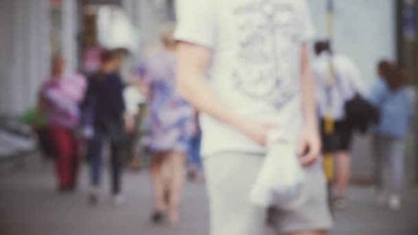
[[[213,47],[213,4],[213,0],[177,0],[175,39],[203,47]]]

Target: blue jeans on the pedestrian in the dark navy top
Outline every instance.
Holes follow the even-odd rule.
[[[96,131],[94,137],[89,141],[87,155],[90,164],[91,186],[100,186],[102,178],[102,149],[103,139],[106,137],[103,132]],[[119,194],[121,192],[122,178],[122,142],[111,139],[111,192]]]

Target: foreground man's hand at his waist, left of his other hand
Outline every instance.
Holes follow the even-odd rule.
[[[274,128],[277,128],[276,125],[268,122],[259,122],[254,120],[240,120],[237,123],[239,131],[250,137],[254,142],[265,146],[267,144],[267,135]]]

